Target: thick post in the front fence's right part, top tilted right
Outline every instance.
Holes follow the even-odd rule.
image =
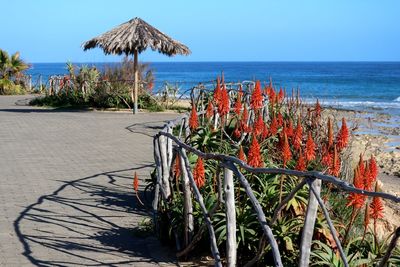
[[[319,195],[321,193],[321,180],[316,179],[310,183],[314,187],[315,192]],[[317,218],[318,201],[312,190],[309,190],[308,205],[304,221],[304,228],[300,244],[300,267],[307,267],[310,265],[311,242],[314,234],[315,220]]]

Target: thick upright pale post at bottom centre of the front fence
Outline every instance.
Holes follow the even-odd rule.
[[[236,266],[236,207],[233,172],[224,168],[224,192],[226,214],[226,266]]]

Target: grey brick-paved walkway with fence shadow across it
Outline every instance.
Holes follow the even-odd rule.
[[[168,263],[166,248],[134,234],[145,212],[132,175],[148,177],[149,135],[177,115],[63,112],[24,99],[0,96],[0,266]]]

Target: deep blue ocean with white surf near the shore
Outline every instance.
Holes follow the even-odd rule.
[[[113,64],[84,63],[100,70]],[[155,92],[164,82],[177,84],[184,92],[223,71],[231,82],[271,78],[276,87],[288,92],[300,88],[303,99],[319,99],[327,106],[400,114],[400,62],[155,62],[150,68]],[[28,70],[34,84],[39,75],[45,83],[51,75],[66,73],[65,63],[34,63]]]

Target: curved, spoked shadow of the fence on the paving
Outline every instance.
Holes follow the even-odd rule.
[[[41,196],[14,221],[23,255],[35,266],[173,262],[167,249],[148,248],[149,242],[154,247],[154,238],[135,234],[147,213],[133,193],[132,171],[146,167],[64,182]]]

